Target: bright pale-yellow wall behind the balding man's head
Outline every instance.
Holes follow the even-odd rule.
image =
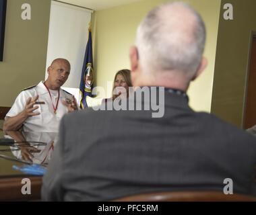
[[[94,69],[96,83],[107,87],[107,81],[113,81],[119,69],[129,69],[129,47],[134,44],[136,28],[150,9],[164,3],[165,0],[146,0],[121,7],[114,7],[94,12]],[[205,73],[192,83],[189,88],[190,105],[195,110],[210,112],[212,102],[212,85],[220,15],[220,0],[191,0],[191,3],[205,20],[207,43],[205,56],[209,66]],[[111,92],[108,91],[108,97]]]

